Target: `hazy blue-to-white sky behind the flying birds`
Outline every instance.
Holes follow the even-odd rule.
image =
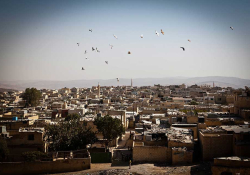
[[[1,0],[0,24],[0,81],[250,79],[249,0]]]

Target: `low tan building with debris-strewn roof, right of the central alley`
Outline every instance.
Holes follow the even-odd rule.
[[[133,162],[192,163],[193,149],[190,129],[160,128],[153,125],[152,129],[144,131],[144,135],[134,136]],[[179,156],[183,158],[179,159]]]

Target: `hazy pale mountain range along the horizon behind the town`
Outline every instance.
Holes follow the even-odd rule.
[[[209,77],[166,77],[166,78],[136,78],[133,79],[133,86],[153,86],[154,84],[161,85],[180,85],[182,83],[186,85],[193,84],[208,84],[220,87],[233,87],[233,88],[244,88],[245,86],[250,86],[249,79],[241,79],[236,77],[222,77],[222,76],[209,76]],[[121,78],[119,82],[114,79],[94,79],[94,80],[69,80],[69,81],[0,81],[0,88],[4,89],[16,89],[24,90],[28,87],[35,87],[38,89],[60,89],[63,87],[91,87],[97,86],[100,83],[101,86],[130,86],[131,79]]]

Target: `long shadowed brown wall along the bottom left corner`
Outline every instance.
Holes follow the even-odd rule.
[[[90,157],[46,162],[3,162],[0,163],[0,174],[19,175],[80,171],[90,169],[90,162]]]

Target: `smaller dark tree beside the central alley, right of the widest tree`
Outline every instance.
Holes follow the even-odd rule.
[[[122,122],[118,118],[112,118],[111,116],[98,117],[94,124],[99,132],[102,133],[103,138],[107,139],[106,144],[117,137],[121,137],[125,132]]]

